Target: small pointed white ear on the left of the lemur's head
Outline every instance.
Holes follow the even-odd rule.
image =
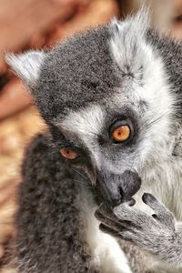
[[[28,51],[19,55],[8,53],[5,55],[6,63],[29,89],[36,85],[44,60],[44,51]]]

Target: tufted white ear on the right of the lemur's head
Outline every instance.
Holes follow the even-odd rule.
[[[147,46],[146,41],[149,26],[145,6],[135,16],[127,16],[125,21],[111,22],[110,48],[123,75],[140,78],[142,70],[147,70],[151,57],[151,46]]]

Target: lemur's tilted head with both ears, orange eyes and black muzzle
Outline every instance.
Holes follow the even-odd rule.
[[[83,168],[106,202],[140,187],[167,141],[172,97],[143,14],[77,35],[49,52],[6,56],[35,98],[60,156]]]

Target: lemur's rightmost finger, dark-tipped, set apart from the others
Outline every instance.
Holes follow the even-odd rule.
[[[168,211],[167,207],[160,203],[156,197],[149,193],[144,193],[142,200],[155,211],[152,217],[160,221],[163,225],[174,229],[175,219],[172,213]]]

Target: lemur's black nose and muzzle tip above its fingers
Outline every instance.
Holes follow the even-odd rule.
[[[126,170],[122,175],[98,175],[96,190],[102,201],[111,207],[116,207],[129,200],[141,186],[141,179],[136,172]]]

